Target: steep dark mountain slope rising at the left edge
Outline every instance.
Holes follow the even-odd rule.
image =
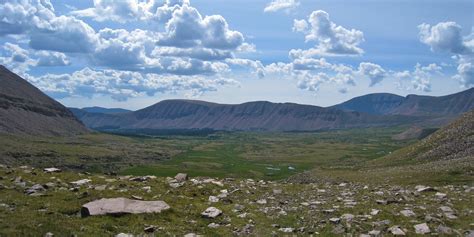
[[[63,105],[0,65],[0,133],[74,135],[86,127]]]

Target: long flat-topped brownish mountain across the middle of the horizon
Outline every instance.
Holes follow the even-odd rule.
[[[213,129],[244,131],[312,131],[369,126],[391,126],[411,121],[407,116],[379,116],[293,103],[256,101],[216,104],[196,100],[165,100],[122,114],[73,110],[94,129]]]

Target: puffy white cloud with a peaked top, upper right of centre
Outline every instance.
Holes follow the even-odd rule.
[[[317,45],[309,50],[292,50],[293,57],[313,57],[320,55],[361,55],[359,44],[364,41],[362,31],[346,29],[329,19],[329,14],[318,10],[311,13],[308,20],[295,20],[293,30],[302,32],[306,41]]]

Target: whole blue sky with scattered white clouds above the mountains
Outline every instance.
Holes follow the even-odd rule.
[[[68,107],[334,105],[474,86],[472,0],[0,0],[0,64]]]

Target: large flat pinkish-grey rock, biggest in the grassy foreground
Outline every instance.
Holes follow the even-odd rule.
[[[168,209],[170,209],[170,206],[163,201],[103,198],[84,204],[81,208],[81,216],[160,213]]]

